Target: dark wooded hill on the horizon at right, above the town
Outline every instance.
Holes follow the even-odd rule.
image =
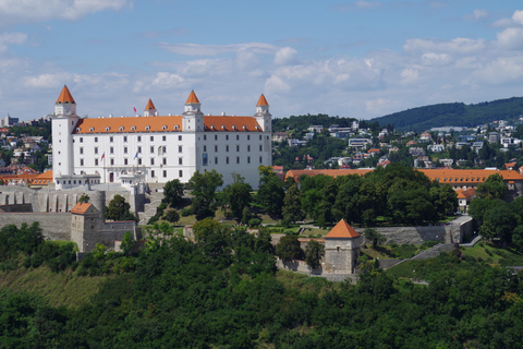
[[[390,123],[399,131],[425,131],[446,125],[475,127],[495,120],[519,118],[520,115],[523,115],[523,97],[512,97],[477,105],[448,103],[413,108],[369,121],[377,121],[382,127]]]

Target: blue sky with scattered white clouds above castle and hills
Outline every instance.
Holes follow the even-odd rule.
[[[205,113],[369,119],[523,96],[521,1],[0,0],[0,117]]]

